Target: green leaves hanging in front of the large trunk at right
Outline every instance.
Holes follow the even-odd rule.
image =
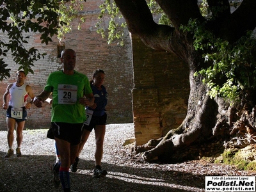
[[[235,44],[229,44],[212,35],[198,20],[190,20],[188,26],[182,26],[181,29],[194,35],[196,50],[205,52],[205,67],[196,72],[195,76],[204,76],[211,97],[224,97],[234,104],[239,100],[241,91],[255,88],[256,61],[253,49],[256,40],[252,38],[251,32]]]

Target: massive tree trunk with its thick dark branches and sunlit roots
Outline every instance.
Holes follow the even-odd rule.
[[[207,87],[202,83],[202,77],[194,76],[196,71],[207,66],[202,60],[203,52],[196,51],[193,47],[193,36],[180,30],[180,26],[186,26],[191,18],[200,22],[205,21],[207,28],[214,35],[228,42],[235,42],[245,35],[247,30],[253,30],[256,26],[255,0],[244,0],[232,14],[228,0],[218,1],[220,4],[215,0],[208,0],[210,9],[216,10],[219,6],[223,10],[211,21],[206,21],[202,17],[196,0],[156,2],[168,15],[173,27],[156,24],[145,0],[115,0],[131,33],[139,36],[148,47],[173,52],[189,65],[191,91],[187,116],[182,125],[175,131],[168,132],[157,147],[145,152],[143,157],[146,161],[158,157],[171,159],[173,151],[188,147],[192,143],[206,141],[217,134],[225,135],[225,131],[221,132],[219,129],[224,126],[226,131],[230,131],[233,126],[234,112],[230,113],[228,103],[221,98],[211,99],[207,95]],[[251,104],[253,105],[253,102]]]

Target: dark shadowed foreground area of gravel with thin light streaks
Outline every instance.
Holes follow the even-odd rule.
[[[0,152],[0,191],[62,191],[51,182],[54,156],[4,159],[5,154]],[[80,159],[77,173],[70,173],[72,191],[204,191],[204,175],[164,171],[157,164],[149,169],[102,163],[108,175],[99,179],[92,177],[93,166],[93,161]]]

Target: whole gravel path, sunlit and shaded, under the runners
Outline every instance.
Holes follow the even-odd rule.
[[[0,131],[0,191],[62,191],[54,188],[50,166],[55,161],[54,140],[46,138],[47,129],[26,130],[22,156],[4,158],[6,131]],[[188,161],[179,164],[141,163],[122,144],[133,137],[133,124],[107,125],[102,168],[104,178],[92,177],[95,137],[92,132],[81,152],[77,173],[70,173],[72,191],[205,191],[206,175],[256,175],[232,166]],[[15,143],[16,145],[16,143]],[[14,145],[14,147],[16,147]]]

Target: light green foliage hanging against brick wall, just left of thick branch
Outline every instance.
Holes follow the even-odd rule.
[[[114,40],[118,40],[118,44],[123,46],[124,29],[127,25],[125,22],[116,22],[116,20],[122,19],[122,15],[116,7],[115,2],[106,0],[100,5],[100,9],[99,21],[96,24],[97,33],[102,35],[102,38],[106,37],[105,22],[108,20],[108,44],[111,44]]]

